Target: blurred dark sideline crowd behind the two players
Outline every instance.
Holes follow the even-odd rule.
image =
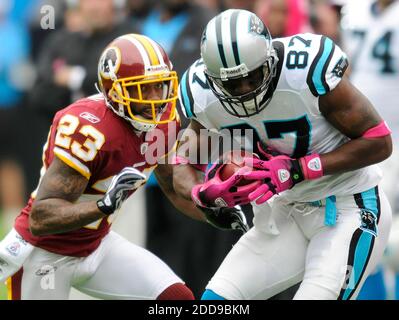
[[[227,8],[259,15],[273,37],[314,32],[341,42],[344,0],[1,0],[0,218],[10,226],[37,184],[54,114],[96,93],[102,49],[142,33],[167,51],[181,77],[199,57],[206,23]],[[183,119],[183,125],[185,121]],[[163,196],[146,192],[146,247],[198,296],[239,234],[190,221]],[[247,210],[250,215],[250,210]],[[134,212],[132,212],[134,214]]]

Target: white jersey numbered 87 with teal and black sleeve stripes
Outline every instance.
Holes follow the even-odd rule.
[[[310,33],[275,39],[279,62],[269,105],[249,118],[230,115],[208,88],[204,65],[197,60],[180,83],[182,111],[208,129],[254,129],[255,140],[298,158],[326,153],[348,141],[319,110],[318,97],[333,90],[347,66],[346,55],[327,37]],[[255,141],[256,142],[256,141]],[[307,180],[285,191],[292,201],[317,201],[355,194],[378,184],[376,166]]]

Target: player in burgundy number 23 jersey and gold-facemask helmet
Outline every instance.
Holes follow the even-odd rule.
[[[157,167],[179,126],[177,81],[148,37],[127,34],[106,47],[101,93],[56,114],[39,186],[1,242],[0,276],[18,271],[8,280],[10,298],[67,299],[74,287],[103,299],[193,299],[164,262],[110,231],[114,213],[153,170],[172,202],[202,219],[174,193],[171,167]]]

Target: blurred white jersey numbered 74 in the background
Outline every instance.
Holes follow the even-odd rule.
[[[352,83],[373,103],[399,139],[399,1],[378,14],[376,1],[350,1],[342,40]]]

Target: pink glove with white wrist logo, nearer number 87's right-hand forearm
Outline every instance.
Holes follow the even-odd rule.
[[[291,189],[305,179],[316,179],[323,176],[320,157],[317,154],[292,159],[286,155],[277,155],[271,149],[260,148],[259,151],[267,160],[245,158],[246,165],[253,165],[258,170],[248,171],[242,177],[248,180],[263,180],[262,185],[249,194],[251,201],[262,204],[273,195]]]

